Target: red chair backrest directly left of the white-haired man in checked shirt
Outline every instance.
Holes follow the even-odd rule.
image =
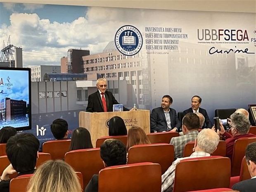
[[[134,145],[128,152],[128,163],[152,162],[161,165],[164,174],[174,161],[174,147],[167,143]]]

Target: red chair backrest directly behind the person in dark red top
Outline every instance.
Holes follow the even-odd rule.
[[[231,176],[239,176],[242,159],[245,155],[245,149],[249,143],[256,142],[256,137],[239,138],[235,141],[233,148]]]

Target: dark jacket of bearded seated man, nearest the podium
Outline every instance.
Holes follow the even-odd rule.
[[[170,117],[171,117],[171,126],[172,128],[177,127],[178,132],[180,131],[181,123],[177,117],[176,111],[172,108],[170,109]],[[152,110],[151,116],[150,116],[150,132],[162,132],[167,130],[167,122],[164,115],[164,110],[162,107],[158,107]]]

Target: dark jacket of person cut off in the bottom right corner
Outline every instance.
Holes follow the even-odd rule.
[[[232,190],[240,192],[256,192],[256,178],[238,182],[233,185]]]

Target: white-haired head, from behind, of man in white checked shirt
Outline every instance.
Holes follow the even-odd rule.
[[[219,135],[212,129],[203,129],[197,135],[195,151],[212,154],[220,141]]]

